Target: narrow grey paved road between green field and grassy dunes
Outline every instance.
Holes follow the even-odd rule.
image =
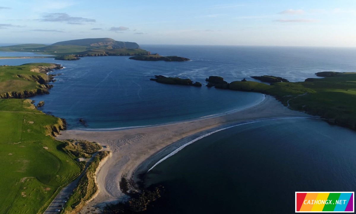
[[[103,149],[102,149],[103,150]],[[101,151],[101,150],[100,150]],[[67,187],[64,187],[61,192],[58,193],[58,195],[56,196],[56,198],[54,198],[54,200],[52,201],[51,204],[49,204],[49,206],[47,207],[46,211],[43,214],[53,214],[53,213],[59,213],[56,212],[56,209],[61,209],[62,210],[62,205],[66,204],[65,202],[63,202],[63,200],[68,200],[67,198],[70,197],[70,194],[73,192],[74,188],[77,186],[77,183],[79,182],[80,178],[83,177],[85,171],[87,171],[88,165],[91,161],[93,161],[95,155],[98,152],[95,152],[93,154],[93,157],[91,157],[90,159],[86,159],[87,163],[85,163],[85,168],[83,170],[83,172],[78,176],[77,179],[75,179],[72,183],[69,183],[67,185]]]

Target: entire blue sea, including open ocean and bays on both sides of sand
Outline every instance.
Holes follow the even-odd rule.
[[[356,71],[354,48],[141,47],[192,61],[112,56],[78,61],[3,59],[0,65],[61,63],[65,68],[53,72],[61,75],[50,94],[33,99],[45,101],[42,111],[66,118],[69,129],[96,130],[216,116],[263,100],[259,93],[159,84],[149,80],[154,75],[190,78],[204,85],[213,75],[227,82],[259,75],[294,82],[315,78],[320,71]],[[167,189],[163,201],[148,213],[294,213],[295,191],[355,191],[355,143],[355,132],[319,119],[261,121],[211,134],[146,174],[146,185],[162,183]]]

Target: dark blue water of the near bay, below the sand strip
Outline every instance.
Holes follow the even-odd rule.
[[[147,213],[294,213],[294,192],[355,191],[356,133],[319,119],[245,124],[190,144],[145,176]]]

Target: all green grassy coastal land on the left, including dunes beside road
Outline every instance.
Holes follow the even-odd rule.
[[[54,75],[47,72],[61,68],[50,63],[0,67],[0,195],[6,195],[0,203],[1,213],[43,213],[59,191],[85,169],[85,164],[75,159],[91,158],[101,149],[95,142],[57,141],[53,137],[66,128],[64,119],[47,115],[32,100],[24,99],[49,93],[52,86],[46,83],[53,81]],[[85,204],[96,192],[95,170],[108,154],[100,151],[91,158],[67,213],[73,213],[70,210]]]

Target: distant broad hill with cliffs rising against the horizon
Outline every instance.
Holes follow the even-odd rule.
[[[111,38],[96,38],[96,39],[76,39],[63,42],[56,42],[52,45],[79,45],[79,46],[106,46],[106,49],[128,48],[138,49],[140,46],[136,42],[115,41]]]

